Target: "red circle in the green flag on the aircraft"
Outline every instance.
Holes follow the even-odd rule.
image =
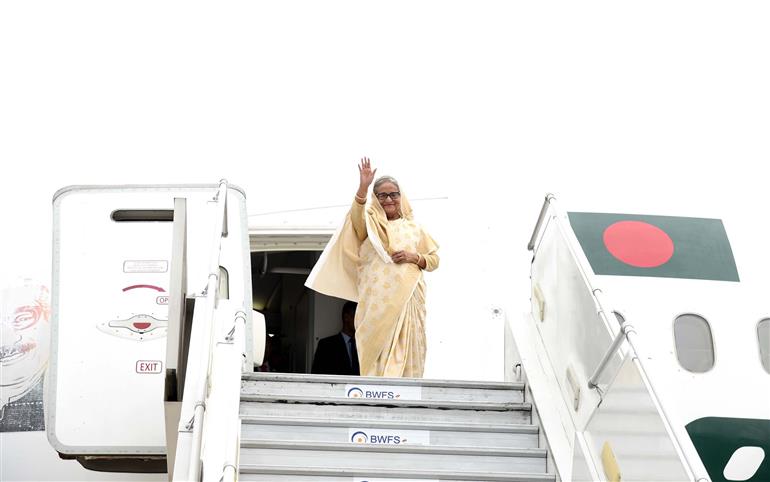
[[[665,231],[642,221],[618,221],[604,230],[604,246],[618,260],[636,268],[656,268],[674,255]]]

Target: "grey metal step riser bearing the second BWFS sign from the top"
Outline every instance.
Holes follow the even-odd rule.
[[[409,445],[442,447],[537,448],[538,428],[533,425],[394,423],[390,421],[270,419],[243,417],[241,438],[250,441],[295,441],[313,443],[389,442],[388,436]]]

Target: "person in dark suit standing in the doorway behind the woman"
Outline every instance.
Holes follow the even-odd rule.
[[[356,350],[356,306],[348,301],[342,306],[342,331],[318,340],[312,373],[359,375]]]

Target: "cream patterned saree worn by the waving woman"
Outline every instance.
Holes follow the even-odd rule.
[[[415,223],[401,196],[402,217],[388,221],[372,195],[353,202],[306,281],[320,293],[358,301],[356,346],[361,375],[422,377],[425,368],[425,281],[412,263],[394,263],[399,250],[419,253],[427,271],[438,267],[438,246]]]

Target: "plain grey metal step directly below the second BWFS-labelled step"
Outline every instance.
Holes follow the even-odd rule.
[[[511,471],[545,473],[544,449],[478,449],[363,444],[301,444],[244,441],[241,465],[282,465],[364,470],[408,467],[410,470],[446,470],[455,473]]]

